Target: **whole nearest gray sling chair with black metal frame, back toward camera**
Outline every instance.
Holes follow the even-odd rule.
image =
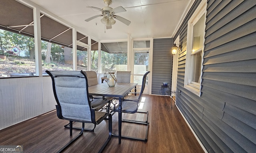
[[[84,123],[100,124],[108,117],[109,136],[100,148],[102,152],[112,135],[112,115],[108,112],[98,112],[92,108],[88,94],[88,80],[83,71],[46,71],[52,78],[54,97],[57,102],[57,116],[69,120],[70,136],[72,135],[72,122],[82,122],[81,132],[62,147],[63,151],[73,141],[83,134]],[[94,126],[94,127],[95,127]]]

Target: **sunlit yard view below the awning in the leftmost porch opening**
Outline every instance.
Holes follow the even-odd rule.
[[[35,74],[34,38],[0,29],[0,77]]]

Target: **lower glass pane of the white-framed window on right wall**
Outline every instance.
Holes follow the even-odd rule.
[[[202,52],[193,55],[192,82],[200,83]]]

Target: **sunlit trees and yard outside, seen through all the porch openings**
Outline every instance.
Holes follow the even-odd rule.
[[[58,70],[72,70],[72,64],[65,64],[64,61],[64,47],[61,45],[57,45],[51,43],[51,62],[46,63],[46,50],[47,50],[47,42],[42,41],[42,66],[43,72],[46,69],[53,68]],[[23,51],[22,57],[19,55],[9,56],[9,52],[12,51],[14,47],[17,47],[20,51]],[[9,51],[7,53],[7,51]],[[7,55],[9,59],[9,63],[12,62],[15,65],[25,66],[30,63],[30,65],[34,65],[35,61],[35,47],[34,47],[34,38],[28,37],[25,35],[20,35],[18,33],[13,33],[10,31],[4,31],[0,29],[0,55]],[[72,56],[72,53],[71,55]],[[14,57],[14,59],[12,59]],[[79,63],[79,66],[85,67],[80,69],[88,69],[88,53],[87,51],[77,51],[78,61],[82,61]],[[135,54],[135,65],[148,65],[148,53],[136,53]],[[98,72],[98,51],[91,51],[91,70]],[[18,60],[20,59],[20,60]],[[24,62],[21,59],[29,59],[30,62]],[[1,60],[2,61],[2,60]],[[32,63],[31,63],[32,62]],[[6,62],[5,62],[6,63]],[[116,71],[115,65],[127,65],[127,53],[106,53],[102,51],[101,54],[101,72],[108,73],[110,71]],[[11,71],[9,73],[34,73],[35,66],[33,66],[34,70],[22,70],[22,71]],[[9,70],[8,67],[5,70]],[[5,74],[4,71],[0,72],[1,74]],[[27,72],[28,71],[28,72]],[[1,77],[1,76],[0,76]]]

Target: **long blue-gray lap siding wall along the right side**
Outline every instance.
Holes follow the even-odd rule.
[[[256,152],[256,0],[208,0],[201,97],[184,88],[187,23],[174,39],[176,104],[209,153]]]

